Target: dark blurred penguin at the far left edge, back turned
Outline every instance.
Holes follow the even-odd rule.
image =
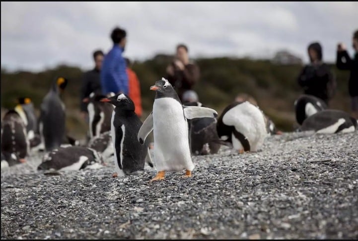
[[[29,152],[26,127],[15,110],[9,110],[1,121],[1,153],[9,166],[25,162]]]

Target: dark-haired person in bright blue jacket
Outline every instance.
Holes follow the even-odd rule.
[[[128,75],[124,52],[127,38],[126,31],[116,27],[111,33],[113,48],[105,55],[101,70],[101,86],[104,95],[110,92],[128,95]]]

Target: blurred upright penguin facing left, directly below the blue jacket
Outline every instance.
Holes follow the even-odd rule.
[[[100,102],[106,98],[104,95],[92,92],[89,98],[82,101],[88,103],[89,137],[99,136],[101,133],[111,130],[111,117],[113,106]]]

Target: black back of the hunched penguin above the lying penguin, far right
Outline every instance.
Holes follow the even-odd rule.
[[[296,120],[298,124],[302,124],[303,120],[305,120],[306,117],[306,105],[310,103],[313,105],[313,107],[317,110],[317,111],[322,111],[327,109],[327,104],[312,95],[300,95],[300,97],[298,97],[296,105],[295,105],[295,114],[296,114]]]

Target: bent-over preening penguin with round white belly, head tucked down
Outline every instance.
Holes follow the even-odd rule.
[[[257,151],[268,136],[265,115],[248,101],[228,105],[216,128],[220,139],[230,142],[239,153]]]

